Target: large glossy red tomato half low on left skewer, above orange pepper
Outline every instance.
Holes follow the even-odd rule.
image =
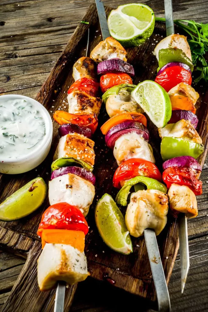
[[[37,235],[42,235],[43,229],[59,229],[82,231],[88,233],[88,224],[80,209],[60,202],[46,209],[41,218]]]

